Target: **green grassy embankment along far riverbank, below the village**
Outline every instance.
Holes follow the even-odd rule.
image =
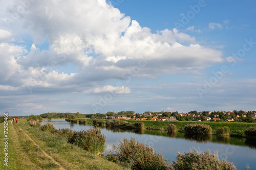
[[[76,118],[77,120],[86,120],[88,124],[93,124],[94,119],[90,118]],[[111,120],[104,120],[111,121]],[[228,127],[230,129],[230,136],[243,136],[244,130],[249,127],[256,127],[256,123],[236,123],[236,122],[193,122],[193,121],[153,121],[153,120],[123,120],[128,123],[143,122],[144,128],[152,128],[158,130],[167,130],[169,124],[174,124],[177,127],[177,131],[183,132],[185,125],[189,124],[205,124],[209,125],[212,129],[212,133],[216,133],[219,127]]]

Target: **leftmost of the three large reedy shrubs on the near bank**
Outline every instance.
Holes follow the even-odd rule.
[[[99,128],[91,128],[88,130],[75,131],[69,137],[68,142],[76,144],[91,153],[101,154],[105,149],[106,136],[101,134]]]

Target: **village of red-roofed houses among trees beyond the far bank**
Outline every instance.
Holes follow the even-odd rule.
[[[129,111],[131,112],[131,111]],[[188,113],[178,112],[144,112],[141,114],[127,115],[125,111],[114,113],[108,112],[113,116],[104,116],[106,119],[124,119],[124,120],[160,120],[160,121],[210,121],[210,122],[254,122],[256,111],[232,111],[232,112],[211,112],[211,111],[190,111]],[[124,114],[122,114],[124,113]],[[92,118],[92,117],[91,117]]]

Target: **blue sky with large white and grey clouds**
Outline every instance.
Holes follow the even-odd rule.
[[[253,0],[1,0],[0,114],[256,110]]]

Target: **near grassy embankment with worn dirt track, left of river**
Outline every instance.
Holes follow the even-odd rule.
[[[4,124],[0,124],[0,129],[4,132]],[[1,149],[4,148],[3,134],[0,133]],[[1,161],[0,169],[60,169],[60,166],[42,150],[52,156],[64,169],[124,169],[116,163],[68,143],[63,135],[51,134],[31,127],[26,119],[19,119],[18,124],[9,123],[8,137],[8,167]],[[1,150],[2,158],[4,154],[5,152]]]

